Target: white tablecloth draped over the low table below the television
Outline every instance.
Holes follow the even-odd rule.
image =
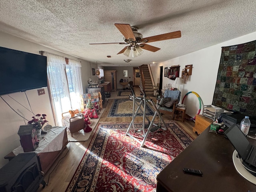
[[[47,131],[47,134],[41,135],[41,137],[44,136],[44,138],[40,138],[38,148],[30,152],[46,153],[61,150],[65,131],[66,127],[52,127],[51,130]],[[22,146],[18,146],[12,152],[14,155],[24,153]]]

